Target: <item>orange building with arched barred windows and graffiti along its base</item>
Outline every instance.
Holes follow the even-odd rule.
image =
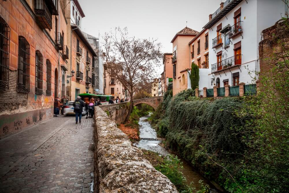
[[[7,0],[0,10],[0,127],[8,128],[3,138],[51,118],[54,98],[66,96],[69,21],[66,0]]]

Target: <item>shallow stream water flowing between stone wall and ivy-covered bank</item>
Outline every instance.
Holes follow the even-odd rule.
[[[151,124],[147,122],[147,118],[149,118],[150,115],[140,117],[140,120],[138,122],[139,130],[140,130],[140,141],[137,141],[134,145],[143,148],[146,150],[150,150],[153,152],[157,152],[158,154],[166,157],[168,154],[173,154],[172,152],[167,151],[165,148],[159,145],[161,142],[160,138],[157,138],[156,131],[151,127]],[[179,157],[179,159],[181,159]],[[181,159],[183,162],[184,168],[180,171],[184,174],[184,176],[187,179],[187,184],[189,185],[191,182],[194,183],[194,186],[196,187],[196,190],[199,190],[199,180],[203,180],[203,183],[209,184],[211,187],[210,192],[211,193],[218,193],[216,191],[216,188],[210,181],[206,180],[202,177],[202,175],[197,172],[187,161]]]

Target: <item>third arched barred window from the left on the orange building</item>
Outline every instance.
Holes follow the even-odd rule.
[[[42,95],[43,93],[43,56],[39,51],[36,51],[35,56],[35,94]]]

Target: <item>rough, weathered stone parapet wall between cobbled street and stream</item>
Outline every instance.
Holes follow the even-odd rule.
[[[98,106],[94,151],[95,192],[177,192]]]

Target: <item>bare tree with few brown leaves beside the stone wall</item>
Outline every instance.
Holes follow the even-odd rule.
[[[121,82],[130,96],[129,115],[133,95],[156,77],[156,67],[162,59],[161,44],[155,39],[129,37],[125,27],[116,27],[103,36],[103,58],[111,78]]]

